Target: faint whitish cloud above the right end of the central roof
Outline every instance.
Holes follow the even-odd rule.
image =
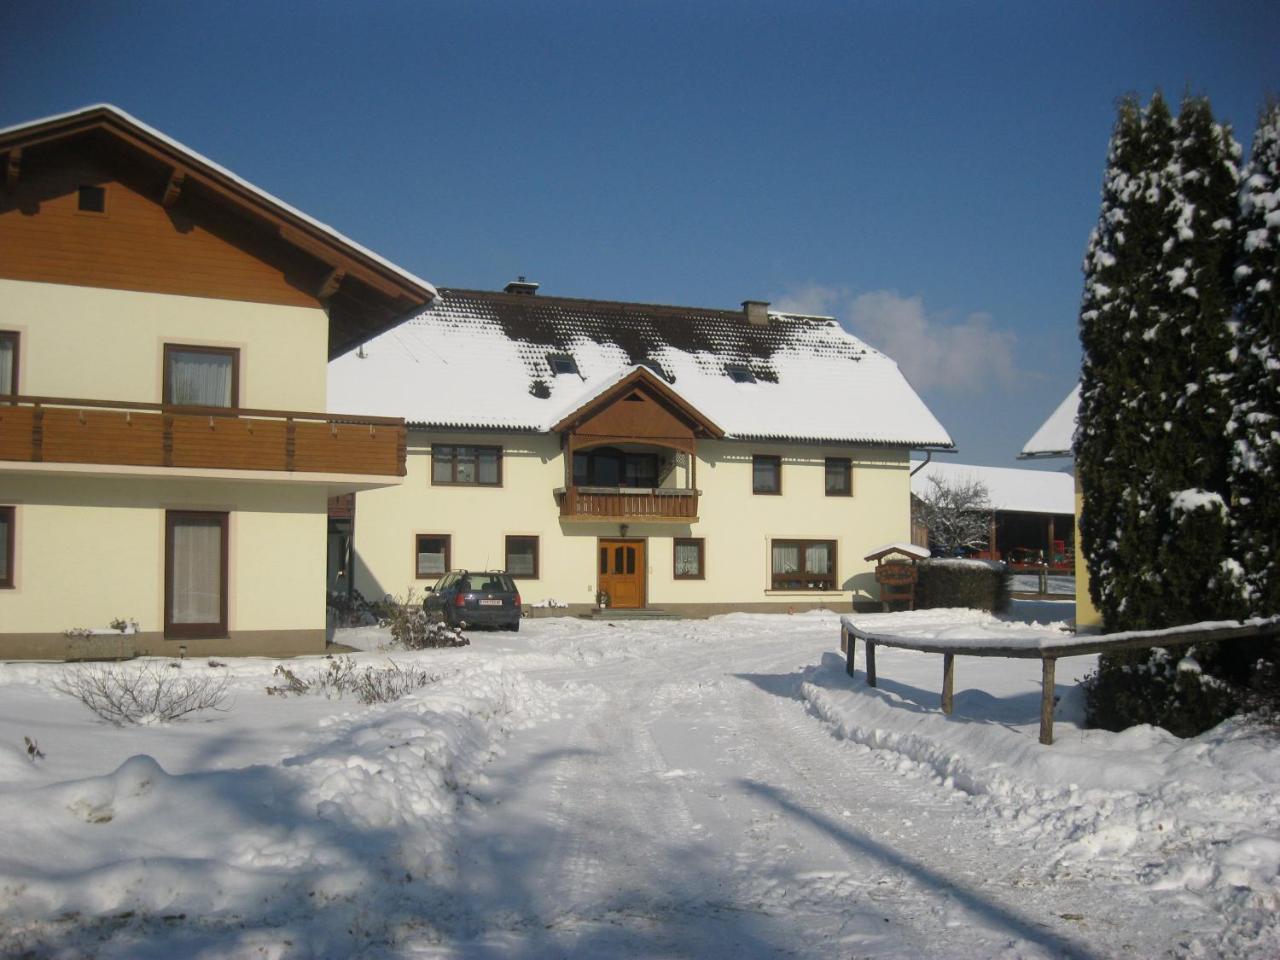
[[[929,314],[920,297],[893,291],[854,296],[836,287],[801,287],[776,310],[835,316],[858,337],[883,351],[922,390],[986,392],[1011,387],[1024,374],[1014,360],[1016,335],[988,314],[961,321]]]

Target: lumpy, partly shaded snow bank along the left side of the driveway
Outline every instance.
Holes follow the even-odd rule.
[[[470,666],[393,704],[337,707],[279,764],[172,774],[136,755],[0,794],[0,954],[52,952],[67,918],[81,934],[128,919],[111,940],[124,956],[154,924],[218,931],[223,947],[228,931],[293,929],[298,956],[421,927],[461,799],[503,736],[543,716],[545,691]]]

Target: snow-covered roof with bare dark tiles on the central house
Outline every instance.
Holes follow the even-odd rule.
[[[556,374],[556,355],[579,372]],[[462,289],[440,289],[413,319],[334,360],[329,410],[548,431],[637,366],[730,436],[952,445],[897,364],[832,317],[771,312],[751,324],[737,310]]]

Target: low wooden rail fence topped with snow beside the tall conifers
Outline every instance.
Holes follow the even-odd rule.
[[[1123,634],[1064,635],[1039,641],[1038,645],[1014,645],[998,640],[974,639],[931,640],[904,637],[892,634],[874,634],[854,625],[850,617],[840,618],[840,646],[845,652],[845,672],[854,676],[854,646],[867,644],[867,685],[876,686],[876,648],[896,646],[902,650],[942,654],[942,712],[951,713],[955,689],[956,657],[1010,657],[1041,660],[1041,735],[1042,744],[1053,742],[1053,672],[1062,657],[1084,657],[1115,650],[1147,650],[1153,646],[1185,646],[1211,640],[1236,640],[1240,637],[1266,637],[1280,635],[1280,617],[1197,623],[1167,630],[1134,630]]]

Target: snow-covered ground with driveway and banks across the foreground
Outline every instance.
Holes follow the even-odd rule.
[[[882,649],[867,687],[835,614],[339,639],[431,682],[366,707],[186,662],[229,709],[116,728],[70,667],[0,664],[0,955],[1280,955],[1276,741],[1083,731],[1092,658],[1042,748],[1037,662],[961,658],[943,717],[938,657]]]

